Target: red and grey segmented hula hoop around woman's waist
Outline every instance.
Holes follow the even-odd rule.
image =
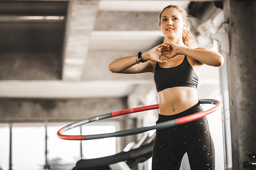
[[[79,141],[135,135],[135,134],[138,134],[138,133],[146,132],[148,130],[163,129],[163,128],[166,128],[166,127],[172,127],[172,126],[180,125],[180,124],[183,124],[183,123],[186,123],[186,122],[191,122],[193,120],[200,119],[200,118],[206,116],[207,114],[216,111],[218,108],[221,108],[221,103],[218,100],[215,100],[215,99],[199,99],[198,101],[199,101],[200,104],[213,104],[213,105],[216,105],[216,106],[214,108],[209,109],[208,111],[201,111],[201,112],[189,115],[189,116],[184,116],[184,117],[174,119],[174,120],[171,120],[171,121],[168,121],[168,122],[162,122],[162,123],[159,123],[157,125],[149,126],[149,127],[138,127],[138,128],[128,129],[128,130],[120,130],[120,131],[113,132],[113,133],[96,134],[96,135],[73,136],[73,135],[62,135],[61,134],[65,131],[67,131],[67,130],[70,130],[70,129],[74,128],[74,127],[85,125],[85,124],[88,124],[90,122],[96,122],[96,121],[99,121],[99,120],[108,119],[108,118],[116,117],[116,116],[121,116],[121,115],[129,114],[129,113],[136,113],[136,112],[140,112],[140,111],[149,111],[149,110],[153,110],[153,109],[158,109],[159,105],[149,105],[149,106],[143,106],[143,107],[139,107],[139,108],[132,108],[132,109],[127,109],[127,110],[123,110],[123,111],[116,111],[116,112],[112,112],[112,113],[106,113],[106,114],[102,114],[102,115],[99,115],[99,116],[94,116],[94,117],[91,117],[91,118],[88,118],[88,119],[83,119],[83,120],[80,120],[78,122],[71,123],[70,125],[62,127],[60,130],[58,130],[57,135],[61,139],[79,140]]]

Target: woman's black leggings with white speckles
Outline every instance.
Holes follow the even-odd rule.
[[[164,116],[157,123],[177,119],[202,111],[196,104],[186,111]],[[179,170],[187,153],[191,170],[214,170],[215,152],[206,117],[174,127],[157,130],[153,148],[152,170]]]

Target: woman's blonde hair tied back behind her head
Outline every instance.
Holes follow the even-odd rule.
[[[186,23],[186,27],[182,31],[183,43],[188,47],[193,47],[196,44],[196,38],[195,38],[195,35],[192,33],[192,31],[190,31],[191,25],[188,20],[189,14],[185,9],[180,8],[180,6],[177,6],[177,5],[166,6],[165,8],[163,8],[163,10],[161,11],[161,13],[159,15],[159,26],[161,24],[161,15],[166,8],[177,8],[180,11],[180,13],[182,15],[182,20],[183,20],[183,22]],[[164,41],[166,41],[166,40],[164,40]]]

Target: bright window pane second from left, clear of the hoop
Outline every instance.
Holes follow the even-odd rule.
[[[42,170],[45,165],[45,127],[12,127],[12,169]]]

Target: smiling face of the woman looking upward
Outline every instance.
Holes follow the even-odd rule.
[[[182,31],[186,27],[181,11],[177,8],[166,8],[161,15],[160,28],[168,39],[182,38]]]

